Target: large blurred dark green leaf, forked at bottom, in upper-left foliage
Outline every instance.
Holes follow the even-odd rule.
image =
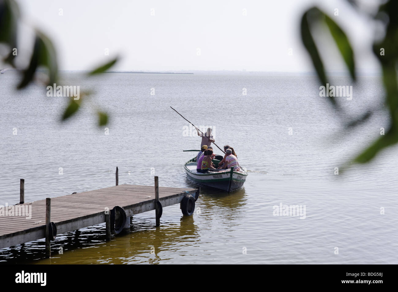
[[[49,85],[57,82],[58,64],[55,48],[49,38],[37,31],[33,53],[29,66],[23,71],[23,79],[18,85],[18,89],[27,86],[33,79],[38,66],[45,66],[49,70]]]

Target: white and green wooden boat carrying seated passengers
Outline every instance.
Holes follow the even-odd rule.
[[[219,165],[220,160],[213,159],[215,167]],[[234,191],[242,188],[246,181],[248,173],[246,170],[234,170],[233,167],[227,169],[211,169],[208,173],[197,172],[196,157],[184,164],[184,170],[187,176],[199,186],[216,188],[223,191]]]

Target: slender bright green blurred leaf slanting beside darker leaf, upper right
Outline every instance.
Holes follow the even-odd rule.
[[[351,78],[355,81],[355,62],[354,62],[354,52],[351,48],[351,44],[348,41],[347,36],[344,31],[333,21],[328,15],[325,15],[325,22],[329,27],[330,33],[337,44],[337,47],[343,56],[344,62],[348,67],[351,74]]]

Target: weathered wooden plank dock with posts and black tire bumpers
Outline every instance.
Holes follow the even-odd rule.
[[[21,180],[21,202],[23,188]],[[156,210],[159,226],[164,207],[179,203],[184,215],[192,215],[199,191],[158,187],[155,177],[155,186],[120,185],[5,206],[0,208],[0,249],[45,238],[49,257],[50,241],[56,234],[105,222],[106,237],[110,240],[111,233],[129,228],[131,216],[151,210]]]

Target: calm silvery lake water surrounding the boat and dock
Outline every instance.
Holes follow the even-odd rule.
[[[1,249],[0,263],[398,263],[397,148],[341,172],[388,128],[379,77],[361,77],[351,101],[337,98],[351,117],[378,110],[353,130],[319,96],[313,76],[108,73],[86,79],[68,72],[62,80],[95,93],[65,123],[66,98],[47,97],[38,85],[15,91],[17,75],[0,76],[1,205],[18,203],[20,178],[25,201],[34,201],[113,186],[116,166],[119,184],[153,185],[156,175],[160,186],[195,187],[183,171],[195,153],[182,150],[198,149],[201,139],[187,134],[189,124],[170,106],[196,126],[212,126],[216,143],[234,147],[249,176],[230,194],[203,188],[192,217],[173,205],[164,208],[159,228],[151,211],[135,216],[131,232],[111,242],[104,225],[92,226],[58,236],[51,259],[43,258],[41,240],[23,252]],[[331,83],[352,85],[346,77]],[[109,113],[109,135],[96,126],[96,107]],[[280,204],[305,205],[305,219],[274,216]]]

